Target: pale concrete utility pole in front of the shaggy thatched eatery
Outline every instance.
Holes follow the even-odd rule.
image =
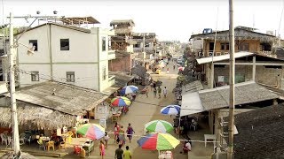
[[[14,146],[14,155],[18,155],[20,152],[20,140],[19,140],[19,127],[18,127],[18,113],[17,113],[17,102],[15,98],[15,74],[14,74],[14,33],[12,26],[12,13],[10,12],[10,53],[9,53],[9,79],[10,79],[10,99],[11,99],[11,110],[12,110],[12,139]]]

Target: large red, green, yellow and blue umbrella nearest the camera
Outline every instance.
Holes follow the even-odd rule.
[[[139,147],[149,150],[167,150],[176,148],[180,143],[169,133],[149,133],[138,141]]]

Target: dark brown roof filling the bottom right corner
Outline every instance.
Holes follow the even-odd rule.
[[[235,115],[234,158],[284,158],[283,117],[283,103]]]

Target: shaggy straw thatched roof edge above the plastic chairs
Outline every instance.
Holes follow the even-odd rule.
[[[75,116],[36,106],[27,102],[17,102],[18,122],[20,127],[31,129],[57,129],[64,125],[75,125]],[[12,126],[12,110],[10,107],[0,107],[0,125]]]

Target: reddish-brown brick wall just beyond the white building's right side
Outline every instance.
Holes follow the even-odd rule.
[[[130,55],[124,57],[117,57],[109,61],[108,69],[112,72],[130,72]]]

